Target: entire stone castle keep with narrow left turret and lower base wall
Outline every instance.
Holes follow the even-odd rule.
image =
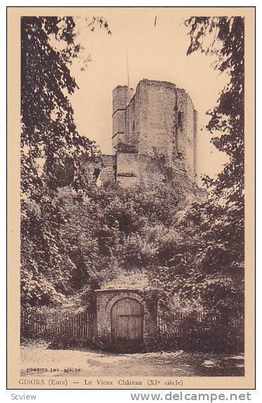
[[[136,92],[117,85],[112,93],[112,155],[96,168],[97,184],[123,186],[161,180],[157,156],[192,182],[196,176],[197,112],[189,95],[171,82],[140,80]]]

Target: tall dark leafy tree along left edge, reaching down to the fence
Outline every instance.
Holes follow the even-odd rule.
[[[87,25],[110,33],[103,18]],[[61,301],[72,290],[77,266],[60,233],[66,217],[55,191],[79,187],[81,157],[99,155],[74,124],[70,64],[81,49],[75,39],[71,17],[21,18],[21,294],[31,304]]]

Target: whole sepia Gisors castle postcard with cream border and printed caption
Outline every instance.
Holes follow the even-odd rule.
[[[254,7],[8,7],[8,388],[254,388]]]

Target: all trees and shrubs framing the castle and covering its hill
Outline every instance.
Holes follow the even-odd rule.
[[[209,197],[193,203],[188,184],[178,192],[162,158],[166,180],[150,189],[108,183],[98,190],[86,182],[81,157],[97,159],[99,151],[77,133],[65,95],[77,87],[68,67],[79,51],[74,21],[22,18],[22,304],[86,302],[94,289],[143,272],[169,314],[204,308],[226,316],[231,306],[243,306],[244,22],[186,24],[188,54],[216,54],[215,67],[230,75],[207,126],[219,133],[211,141],[229,162],[218,178],[204,178]],[[204,46],[212,33],[215,41]]]

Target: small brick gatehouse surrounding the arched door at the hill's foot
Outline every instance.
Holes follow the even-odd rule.
[[[96,290],[96,309],[98,339],[106,345],[115,347],[122,340],[127,350],[128,345],[137,349],[157,336],[155,290]]]

